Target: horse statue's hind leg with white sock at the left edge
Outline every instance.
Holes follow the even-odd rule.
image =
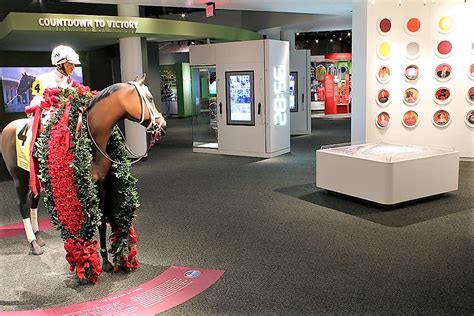
[[[18,209],[23,219],[23,226],[25,227],[26,238],[30,244],[31,252],[34,255],[41,255],[43,250],[36,241],[33,228],[31,226],[30,212],[27,205],[27,195],[29,187],[28,172],[17,167],[16,165],[16,122],[13,121],[8,124],[2,132],[2,156],[8,172],[13,178],[15,190],[17,194]]]

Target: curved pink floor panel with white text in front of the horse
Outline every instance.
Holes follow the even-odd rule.
[[[42,310],[0,311],[0,315],[155,315],[190,300],[223,274],[224,270],[173,266],[137,288],[92,302]]]

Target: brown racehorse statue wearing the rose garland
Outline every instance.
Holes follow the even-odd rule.
[[[99,228],[100,236],[100,254],[102,256],[102,270],[110,271],[113,269],[112,264],[107,256],[107,240],[106,240],[106,221],[110,212],[114,212],[110,201],[106,198],[108,182],[110,181],[111,167],[113,163],[120,162],[111,159],[111,155],[107,153],[109,139],[114,130],[116,123],[122,119],[129,119],[140,123],[146,128],[147,133],[152,134],[148,137],[149,146],[154,144],[162,135],[166,134],[166,121],[157,111],[153,96],[148,87],[144,85],[145,75],[137,77],[135,81],[128,83],[117,83],[100,91],[84,109],[85,128],[88,131],[92,148],[92,161],[90,165],[90,176],[95,183],[98,193],[99,209],[101,211],[101,220]],[[13,178],[18,208],[23,219],[30,217],[30,209],[36,209],[39,201],[39,194],[35,196],[33,190],[29,186],[29,172],[17,166],[17,150],[16,140],[17,126],[24,124],[28,119],[20,119],[9,123],[1,134],[1,150],[3,160],[6,167]],[[77,132],[77,130],[76,130]],[[151,141],[150,141],[151,139]],[[36,144],[38,145],[38,144]],[[33,218],[32,218],[33,219]],[[27,230],[25,225],[25,230]],[[29,226],[31,228],[31,225]],[[39,230],[36,232],[26,232],[27,236],[33,234],[36,238],[30,243],[33,254],[40,255],[43,253],[41,249],[44,241],[39,236]],[[69,260],[68,260],[69,261]]]

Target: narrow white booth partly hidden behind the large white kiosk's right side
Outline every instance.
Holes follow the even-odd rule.
[[[290,50],[290,133],[311,134],[309,50]]]

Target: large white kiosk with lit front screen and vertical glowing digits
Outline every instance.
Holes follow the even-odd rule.
[[[288,42],[191,46],[189,58],[194,152],[269,158],[290,151]],[[216,77],[214,96],[204,87],[213,81],[212,74],[210,79],[203,75],[206,71]],[[206,128],[215,137],[197,139]]]

